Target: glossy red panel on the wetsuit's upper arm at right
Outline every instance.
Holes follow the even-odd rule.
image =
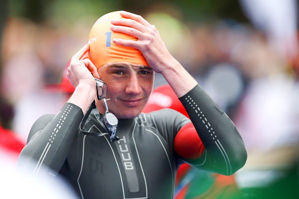
[[[177,132],[174,138],[174,150],[186,159],[199,158],[203,153],[204,146],[191,122]]]

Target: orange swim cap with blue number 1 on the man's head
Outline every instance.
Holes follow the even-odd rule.
[[[107,13],[95,22],[89,34],[88,43],[90,48],[88,58],[97,69],[111,62],[128,62],[149,66],[147,60],[138,49],[120,46],[113,42],[114,38],[137,40],[136,37],[128,34],[110,30],[112,25],[110,21],[117,18],[124,18],[120,15],[120,11]]]

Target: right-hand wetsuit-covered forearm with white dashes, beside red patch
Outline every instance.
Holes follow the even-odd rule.
[[[236,126],[226,113],[199,85],[179,100],[190,116],[216,172],[230,175],[240,169],[246,162],[247,153]]]

